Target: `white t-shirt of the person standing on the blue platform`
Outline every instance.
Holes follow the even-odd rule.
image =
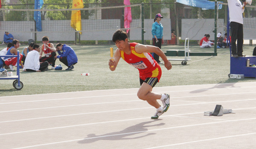
[[[227,0],[230,22],[243,24],[243,5],[240,0]]]

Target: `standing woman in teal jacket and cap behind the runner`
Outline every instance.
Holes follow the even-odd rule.
[[[152,35],[153,35],[153,46],[157,46],[161,49],[162,40],[163,40],[163,25],[160,23],[163,16],[161,14],[157,14],[154,23],[152,24]],[[158,64],[163,64],[159,60],[159,56],[155,53],[152,54],[154,60],[157,61]]]

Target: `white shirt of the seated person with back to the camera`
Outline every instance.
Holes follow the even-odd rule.
[[[39,68],[40,68],[39,52],[37,52],[36,50],[32,50],[26,56],[23,70],[25,69],[39,70]]]

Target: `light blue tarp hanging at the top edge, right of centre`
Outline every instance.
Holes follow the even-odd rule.
[[[215,2],[211,2],[209,0],[176,0],[176,2],[202,9],[215,9]],[[218,9],[221,8],[222,4],[219,5]]]

